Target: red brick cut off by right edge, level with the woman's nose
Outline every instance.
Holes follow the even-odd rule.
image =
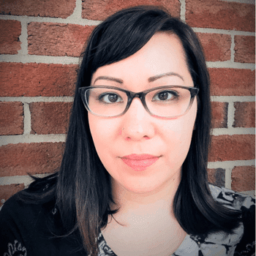
[[[235,102],[233,127],[255,127],[255,102]]]

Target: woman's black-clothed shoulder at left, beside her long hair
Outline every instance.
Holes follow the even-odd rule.
[[[0,255],[85,255],[77,236],[61,236],[64,227],[56,200],[26,201],[24,192],[10,197],[1,208]]]

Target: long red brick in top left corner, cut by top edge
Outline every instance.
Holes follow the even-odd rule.
[[[0,1],[0,14],[67,18],[75,9],[75,0],[5,0]]]

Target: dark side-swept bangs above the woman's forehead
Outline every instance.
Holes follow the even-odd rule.
[[[92,69],[132,56],[171,18],[163,10],[151,7],[134,7],[134,10],[127,14],[116,12],[94,30],[90,54]]]

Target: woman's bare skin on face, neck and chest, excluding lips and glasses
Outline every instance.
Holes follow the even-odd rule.
[[[170,72],[176,75],[163,75]],[[157,86],[194,86],[180,40],[175,34],[167,33],[155,34],[143,48],[127,59],[99,67],[94,72],[91,86],[100,85],[117,86],[135,92]],[[142,252],[138,255],[159,255],[157,243],[164,243],[164,234],[168,233],[172,246],[170,241],[166,241],[168,246],[161,245],[168,255],[175,252],[186,236],[173,216],[171,206],[181,181],[181,167],[189,151],[196,114],[196,99],[184,116],[164,119],[146,112],[138,98],[133,99],[123,116],[104,118],[89,113],[94,145],[110,173],[113,198],[120,207],[114,217],[124,225],[110,222],[103,233],[118,255],[126,255],[128,249],[124,243],[122,246],[125,249],[118,246],[118,238],[130,239],[137,247],[137,252],[140,246]],[[136,171],[120,158],[129,154],[151,154],[159,159],[146,170]],[[143,237],[144,241],[151,239],[150,233],[156,230],[162,236],[155,243],[155,252],[151,249],[150,254],[147,254],[148,246],[143,247],[140,240]],[[128,255],[131,253],[137,255],[136,250],[129,251]],[[161,255],[165,255],[165,252],[161,251]]]

